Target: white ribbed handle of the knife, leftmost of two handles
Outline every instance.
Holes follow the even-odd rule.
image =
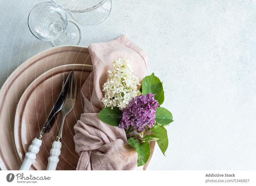
[[[29,170],[33,161],[36,159],[36,154],[39,152],[40,146],[42,145],[42,140],[35,138],[31,145],[28,147],[28,152],[22,162],[20,170]]]

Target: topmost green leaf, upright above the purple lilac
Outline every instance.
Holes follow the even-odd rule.
[[[164,89],[163,83],[159,80],[158,77],[152,73],[149,76],[146,76],[142,81],[142,94],[148,93],[156,94],[155,99],[158,101],[159,105],[164,102]]]

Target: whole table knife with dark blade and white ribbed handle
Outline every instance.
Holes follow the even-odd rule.
[[[70,81],[72,74],[73,72],[70,72],[68,74],[67,81],[64,83],[64,86],[61,89],[58,99],[56,100],[51,112],[45,120],[44,126],[42,127],[37,137],[32,141],[31,145],[29,145],[28,152],[26,153],[25,158],[20,166],[20,170],[29,170],[33,161],[36,159],[36,154],[39,152],[40,146],[42,145],[42,138],[44,134],[48,133],[52,129],[52,126],[55,122],[56,114],[61,110],[67,98],[70,89]]]

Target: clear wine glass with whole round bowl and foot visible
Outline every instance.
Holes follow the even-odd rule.
[[[28,27],[37,39],[51,41],[53,46],[78,45],[81,40],[81,31],[76,23],[68,21],[65,11],[49,1],[32,8]]]

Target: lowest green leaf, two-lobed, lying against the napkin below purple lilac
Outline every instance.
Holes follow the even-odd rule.
[[[137,151],[137,167],[145,165],[150,156],[150,144],[148,142],[140,143],[137,139],[133,138],[129,138],[128,143]]]

